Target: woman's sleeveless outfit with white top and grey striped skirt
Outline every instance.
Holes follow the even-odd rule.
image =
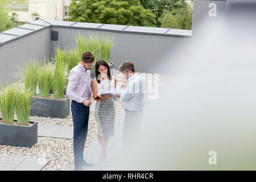
[[[113,77],[112,80],[101,80],[100,84],[97,82],[98,94],[104,93],[114,86]],[[112,97],[102,101],[96,101],[94,117],[98,125],[97,134],[101,137],[113,137],[115,106]]]

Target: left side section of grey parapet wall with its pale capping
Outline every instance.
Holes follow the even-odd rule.
[[[22,27],[25,27],[23,25]],[[49,47],[51,41],[50,28],[32,25],[38,30],[13,28],[0,34],[0,80],[14,81],[12,72],[15,71],[14,65],[22,65],[29,59],[43,60],[50,55]]]

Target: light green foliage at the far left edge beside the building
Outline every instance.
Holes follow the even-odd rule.
[[[0,32],[12,28],[11,20],[6,13],[6,1],[0,0]]]

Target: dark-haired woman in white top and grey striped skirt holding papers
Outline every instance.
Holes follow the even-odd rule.
[[[108,164],[108,158],[106,156],[106,146],[108,144],[109,137],[114,135],[114,119],[115,119],[115,107],[114,100],[111,96],[104,96],[102,93],[107,92],[110,89],[115,88],[115,77],[110,75],[109,65],[104,60],[98,60],[95,64],[96,78],[92,81],[93,97],[101,95],[100,98],[95,98],[96,106],[94,111],[94,117],[96,119],[98,129],[97,137],[101,146],[100,163]],[[119,94],[117,94],[119,97]]]

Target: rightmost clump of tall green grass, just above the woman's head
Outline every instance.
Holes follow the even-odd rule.
[[[105,60],[106,63],[109,63],[109,58],[114,45],[114,38],[111,38],[110,35],[101,36],[100,59]]]

